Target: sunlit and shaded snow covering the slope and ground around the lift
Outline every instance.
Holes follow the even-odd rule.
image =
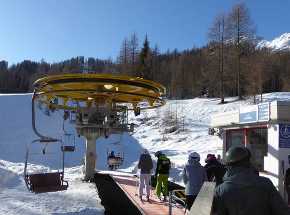
[[[290,92],[263,94],[264,102],[288,100]],[[103,214],[94,183],[83,181],[81,171],[85,150],[85,139],[78,138],[74,124],[66,122],[65,129],[76,136],[76,149],[65,154],[64,179],[69,187],[65,191],[35,194],[28,191],[23,178],[26,147],[33,139],[38,139],[31,126],[32,94],[0,94],[0,208],[1,214]],[[136,163],[143,148],[147,148],[154,159],[154,153],[162,150],[172,161],[170,180],[184,185],[181,170],[188,154],[197,151],[204,163],[206,154],[216,153],[215,136],[208,135],[210,115],[230,111],[241,106],[251,105],[253,101],[227,97],[226,104],[218,104],[218,98],[195,98],[187,100],[166,100],[167,104],[159,109],[141,111],[139,116],[129,112],[129,122],[136,124],[134,132],[124,133],[124,163],[114,174],[136,173]],[[36,127],[43,135],[60,139],[63,130],[63,111],[43,114],[44,109],[36,108]],[[171,113],[171,114],[170,114]],[[166,126],[166,116],[171,115],[178,125]],[[143,119],[143,120],[142,120]],[[145,120],[147,119],[147,120]],[[174,128],[174,129],[173,129]],[[174,130],[173,132],[171,132]],[[107,145],[119,139],[119,135],[97,139],[97,171],[107,170]],[[122,152],[118,146],[108,150]],[[41,146],[35,145],[35,152]],[[60,151],[59,144],[51,144],[47,150]],[[61,154],[58,154],[61,156]],[[29,157],[29,172],[50,172],[57,169],[55,157],[43,159],[43,155]]]

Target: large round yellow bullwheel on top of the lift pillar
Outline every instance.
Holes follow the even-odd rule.
[[[110,108],[119,110],[152,109],[163,106],[160,96],[166,88],[157,82],[139,77],[108,74],[63,74],[38,79],[34,83],[38,90],[35,99],[56,107],[86,109],[93,100],[109,103]],[[51,98],[61,99],[62,104],[51,103]],[[80,101],[85,107],[68,105],[67,102]],[[148,107],[137,107],[139,102],[148,102]],[[132,108],[113,109],[115,103],[131,103]]]

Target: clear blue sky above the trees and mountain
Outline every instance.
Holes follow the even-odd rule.
[[[125,36],[147,33],[160,51],[201,47],[218,12],[236,0],[1,0],[0,60],[116,58]],[[290,0],[244,0],[257,35],[290,32]]]

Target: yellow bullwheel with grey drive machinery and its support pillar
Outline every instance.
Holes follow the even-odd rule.
[[[86,139],[86,181],[94,178],[97,138],[132,132],[133,123],[127,123],[123,112],[163,106],[165,101],[160,97],[166,93],[166,88],[154,81],[104,74],[53,75],[37,80],[34,88],[33,128],[42,141],[51,141],[53,138],[43,136],[36,130],[34,100],[54,107],[75,110],[74,123],[77,133]],[[57,102],[50,102],[51,99]],[[80,105],[70,105],[75,102]],[[140,102],[147,105],[137,107]],[[62,141],[61,143],[63,144]]]

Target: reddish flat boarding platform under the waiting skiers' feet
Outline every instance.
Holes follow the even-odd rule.
[[[110,175],[115,180],[115,182],[120,186],[120,188],[126,193],[126,195],[131,199],[131,201],[138,207],[138,209],[142,214],[168,215],[168,201],[167,203],[157,201],[154,195],[155,193],[154,188],[151,188],[152,195],[154,196],[150,196],[150,202],[146,200],[140,201],[138,197],[135,196],[137,182],[136,177],[130,175],[114,175],[114,174]],[[138,188],[136,192],[138,192]],[[143,193],[145,193],[144,188]],[[172,214],[180,215],[183,213],[176,208],[172,208]]]

